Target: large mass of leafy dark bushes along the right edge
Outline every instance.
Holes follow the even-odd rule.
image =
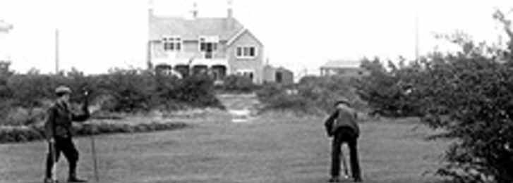
[[[457,38],[462,52],[376,69],[364,78],[361,96],[392,115],[420,116],[443,131],[433,139],[454,139],[437,175],[452,182],[513,182],[513,57],[495,54],[512,52]]]

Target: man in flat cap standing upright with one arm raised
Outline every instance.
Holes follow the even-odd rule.
[[[47,111],[47,120],[44,124],[45,134],[49,143],[49,153],[47,156],[47,170],[44,177],[44,183],[56,182],[56,175],[52,175],[54,163],[59,160],[60,153],[64,153],[69,165],[68,182],[86,182],[79,179],[76,175],[78,162],[78,151],[73,144],[71,122],[83,122],[89,118],[90,113],[87,110],[87,100],[83,103],[83,113],[76,114],[71,111],[69,99],[71,89],[66,86],[60,86],[55,89],[57,99]],[[87,96],[87,92],[84,93]]]

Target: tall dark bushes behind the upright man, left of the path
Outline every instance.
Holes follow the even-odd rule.
[[[114,69],[108,74],[90,76],[75,69],[66,76],[30,72],[0,76],[0,124],[27,125],[42,120],[39,109],[51,105],[54,89],[61,84],[71,87],[72,103],[81,103],[82,92],[87,88],[92,91],[91,104],[112,113],[222,108],[215,97],[213,81],[200,75],[180,80],[134,69]]]

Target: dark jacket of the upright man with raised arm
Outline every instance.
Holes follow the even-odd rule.
[[[71,138],[73,132],[71,122],[83,122],[89,118],[90,113],[87,105],[83,106],[83,114],[73,113],[66,103],[54,103],[47,111],[47,120],[44,123],[44,132],[47,139],[50,138]]]

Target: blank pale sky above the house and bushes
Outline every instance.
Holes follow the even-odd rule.
[[[225,16],[226,0],[196,0],[200,17]],[[155,13],[187,15],[193,0],[153,0]],[[270,63],[298,72],[328,59],[363,56],[414,58],[415,17],[421,53],[440,44],[433,33],[463,30],[476,40],[497,41],[495,8],[513,1],[346,1],[233,0],[234,16],[265,45]],[[26,72],[54,71],[54,32],[60,30],[61,68],[87,73],[109,68],[145,67],[147,0],[0,0],[0,57]],[[509,14],[512,18],[513,13]],[[441,46],[443,49],[444,46]]]

